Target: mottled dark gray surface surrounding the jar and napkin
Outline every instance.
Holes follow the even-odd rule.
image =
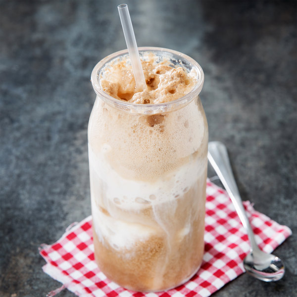
[[[297,2],[126,2],[138,46],[200,63],[209,138],[228,146],[242,198],[293,231],[276,250],[282,280],[244,274],[213,296],[297,296]],[[120,3],[0,1],[1,297],[58,288],[38,247],[90,214],[90,74],[125,48]]]

